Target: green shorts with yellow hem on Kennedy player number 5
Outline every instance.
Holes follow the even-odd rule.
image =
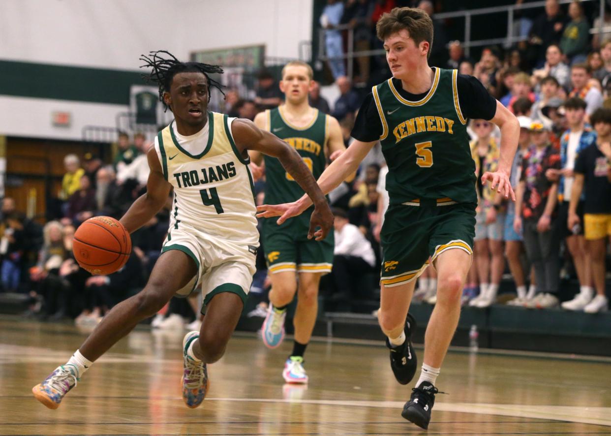
[[[458,248],[473,254],[475,204],[390,205],[384,215],[381,284],[399,286],[417,279],[439,254]],[[424,204],[423,204],[424,203]]]

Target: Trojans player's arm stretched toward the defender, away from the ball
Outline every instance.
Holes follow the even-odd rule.
[[[311,199],[314,204],[308,238],[324,239],[333,226],[333,214],[329,209],[327,199],[316,185],[312,172],[305,166],[299,153],[287,142],[268,131],[261,130],[252,121],[246,119],[236,119],[232,122],[232,134],[236,147],[241,153],[244,154],[247,150],[254,150],[275,157],[280,161],[284,169],[293,176],[293,179],[307,194],[307,198]],[[295,215],[298,215],[298,213]],[[320,227],[320,230],[316,231],[316,227]]]

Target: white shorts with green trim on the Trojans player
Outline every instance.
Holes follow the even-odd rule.
[[[180,228],[172,229],[167,234],[161,249],[162,256],[173,249],[187,254],[197,266],[197,274],[176,292],[176,297],[188,297],[201,286],[204,305],[221,292],[233,292],[246,302],[252,275],[256,271],[256,246],[243,246],[181,223]]]

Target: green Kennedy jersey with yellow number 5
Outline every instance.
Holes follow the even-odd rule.
[[[433,86],[417,102],[403,98],[392,79],[373,87],[390,204],[477,202],[475,163],[456,75],[456,70],[435,68]]]

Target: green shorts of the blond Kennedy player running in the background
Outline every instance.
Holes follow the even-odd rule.
[[[277,218],[263,221],[261,236],[268,272],[330,273],[333,266],[334,233],[321,241],[307,238],[310,213],[289,218],[283,226]]]

